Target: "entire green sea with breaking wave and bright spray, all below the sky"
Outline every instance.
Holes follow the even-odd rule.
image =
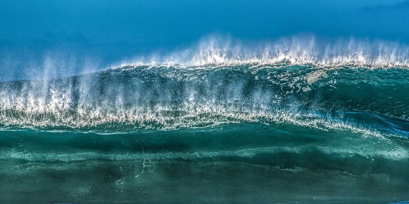
[[[221,41],[0,83],[0,203],[409,200],[407,47]]]

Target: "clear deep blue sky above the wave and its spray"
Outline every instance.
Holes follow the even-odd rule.
[[[409,1],[0,0],[0,80],[33,75],[46,56],[64,58],[55,66],[106,68],[212,33],[243,41],[311,33],[409,43]]]

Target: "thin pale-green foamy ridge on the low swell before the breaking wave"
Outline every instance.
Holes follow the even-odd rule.
[[[381,148],[381,147],[379,147]],[[384,158],[393,161],[406,161],[409,159],[409,152],[403,148],[393,150],[375,149],[373,147],[354,146],[348,144],[339,147],[326,147],[305,144],[297,147],[255,147],[237,150],[218,150],[218,151],[196,151],[196,152],[159,152],[159,153],[98,153],[98,152],[77,152],[77,153],[27,153],[27,152],[3,152],[0,160],[20,159],[30,162],[81,162],[87,160],[107,160],[107,161],[144,161],[149,159],[151,162],[160,160],[196,160],[218,157],[243,157],[252,158],[257,155],[274,153],[295,153],[306,154],[308,152],[320,151],[329,156],[340,158],[349,158],[361,156],[368,159]]]

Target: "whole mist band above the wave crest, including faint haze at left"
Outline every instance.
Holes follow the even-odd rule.
[[[277,40],[246,41],[209,35],[174,50],[160,49],[134,56],[101,55],[80,48],[56,45],[46,51],[2,53],[0,80],[48,80],[106,68],[128,66],[174,66],[200,69],[228,65],[308,65],[315,67],[409,67],[409,46],[399,42],[359,38],[324,39],[294,35]]]

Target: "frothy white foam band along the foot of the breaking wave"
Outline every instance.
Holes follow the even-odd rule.
[[[28,99],[29,104],[6,101],[9,108],[13,108],[14,114],[17,115],[1,114],[0,121],[6,128],[15,126],[22,128],[68,127],[73,129],[91,128],[92,130],[92,127],[102,125],[106,128],[102,128],[100,131],[111,129],[113,132],[138,129],[174,130],[228,123],[262,123],[266,125],[287,123],[322,131],[347,131],[363,137],[377,137],[387,140],[384,135],[375,130],[331,117],[298,109],[263,109],[256,103],[253,104],[257,107],[256,109],[251,106],[240,107],[230,103],[218,105],[212,102],[200,103],[197,101],[187,101],[177,107],[166,104],[134,108],[84,105],[79,106],[73,113],[70,112],[65,100],[59,97],[51,98],[54,100],[48,102],[30,98]],[[4,102],[4,100],[1,101],[2,105],[5,104]]]

